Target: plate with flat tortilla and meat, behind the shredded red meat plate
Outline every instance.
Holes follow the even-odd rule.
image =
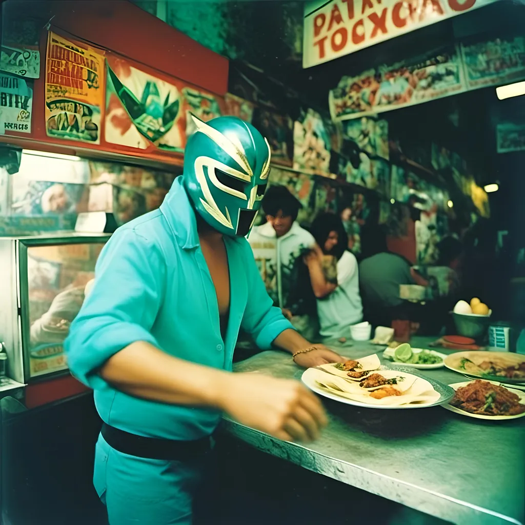
[[[508,384],[525,383],[525,355],[511,352],[456,352],[447,355],[445,366],[468,377]]]

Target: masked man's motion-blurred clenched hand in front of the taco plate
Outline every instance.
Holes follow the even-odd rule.
[[[285,441],[317,439],[327,424],[321,402],[301,383],[265,375],[230,374],[219,407],[239,423]]]

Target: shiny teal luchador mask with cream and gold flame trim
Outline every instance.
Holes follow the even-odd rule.
[[[197,213],[218,232],[246,236],[255,222],[270,171],[270,146],[237,117],[203,122],[184,150],[184,186]]]

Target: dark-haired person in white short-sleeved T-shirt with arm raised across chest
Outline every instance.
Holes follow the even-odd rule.
[[[346,249],[348,237],[337,215],[318,215],[310,229],[321,247],[305,257],[317,297],[320,333],[328,338],[348,338],[350,325],[363,319],[358,261]]]

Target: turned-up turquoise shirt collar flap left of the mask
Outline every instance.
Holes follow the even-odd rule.
[[[160,211],[170,225],[181,248],[190,250],[199,245],[195,211],[182,185],[182,176],[175,178],[170,191],[160,206]]]

